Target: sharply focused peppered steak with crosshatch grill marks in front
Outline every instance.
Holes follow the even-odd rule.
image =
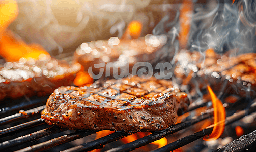
[[[100,88],[100,89],[97,89]],[[189,105],[172,81],[129,76],[87,89],[60,87],[46,103],[46,123],[73,129],[156,131],[175,123]]]

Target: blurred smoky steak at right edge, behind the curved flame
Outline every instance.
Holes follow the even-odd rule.
[[[203,54],[187,50],[176,55],[176,61],[175,75],[178,78],[186,80],[192,75],[201,86],[211,84],[214,90],[220,90],[223,81],[229,81],[228,85],[235,88],[231,93],[256,96],[253,91],[256,89],[256,53],[233,56],[232,52],[220,55],[213,50]],[[185,84],[189,83],[193,85],[192,81]]]

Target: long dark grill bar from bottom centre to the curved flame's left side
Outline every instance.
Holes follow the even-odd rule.
[[[145,146],[151,142],[154,142],[156,140],[159,140],[163,137],[166,137],[170,134],[173,134],[177,131],[180,131],[182,129],[185,129],[195,123],[198,123],[198,122],[201,122],[207,118],[210,118],[213,116],[213,112],[212,111],[209,111],[207,113],[203,113],[202,115],[200,116],[197,116],[189,121],[186,121],[186,122],[183,122],[183,123],[180,123],[180,124],[177,124],[177,125],[173,125],[173,126],[170,126],[168,127],[167,129],[165,130],[162,130],[162,131],[156,131],[156,132],[153,132],[152,134],[148,135],[148,136],[145,136],[143,138],[140,138],[138,140],[135,140],[133,142],[130,142],[130,143],[127,143],[127,144],[124,144],[122,146],[119,146],[119,147],[116,147],[116,148],[112,148],[110,150],[108,150],[108,152],[113,152],[113,151],[131,151],[131,150],[134,150],[136,148],[139,148],[139,147],[142,147],[142,146]]]

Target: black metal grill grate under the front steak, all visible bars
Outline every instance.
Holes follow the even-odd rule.
[[[41,98],[41,100],[44,100],[44,98]],[[39,102],[38,100],[35,101],[35,103],[38,103],[38,102]],[[35,104],[33,101],[30,101],[30,103],[32,106]],[[191,104],[189,109],[187,110],[187,112],[193,111],[193,110],[203,107],[203,106],[206,106],[210,103],[211,102],[206,102],[205,100],[202,100],[202,101],[197,102],[197,104]],[[26,104],[27,107],[28,107],[28,105],[29,104]],[[231,105],[231,104],[228,105],[226,103],[223,105],[225,107],[229,107],[229,106],[234,107],[234,105]],[[3,124],[6,124],[5,126],[8,126],[10,123],[15,123],[15,122],[17,123],[18,121],[21,121],[23,119],[29,119],[29,118],[33,119],[34,117],[40,117],[39,113],[44,108],[45,108],[45,106],[43,105],[43,106],[32,108],[32,109],[26,110],[26,111],[20,110],[19,113],[16,113],[14,115],[7,116],[5,118],[0,119],[0,124],[2,126],[3,126]],[[9,108],[9,109],[13,109],[13,108]],[[16,111],[17,110],[19,110],[19,109],[16,109]],[[234,115],[227,117],[225,123],[231,124],[231,123],[243,118],[245,115],[249,115],[250,113],[252,113],[254,111],[256,111],[256,104],[251,104],[250,108],[241,110],[239,112],[234,113]],[[152,134],[150,134],[148,136],[145,136],[145,137],[137,139],[133,142],[121,145],[119,147],[112,148],[108,151],[112,152],[112,151],[134,150],[136,148],[142,147],[144,145],[150,144],[151,142],[159,140],[163,137],[166,137],[170,134],[178,132],[182,129],[186,129],[198,122],[201,122],[205,119],[211,118],[212,116],[213,116],[213,109],[207,110],[206,112],[201,113],[200,116],[188,118],[188,120],[186,119],[186,121],[184,121],[182,123],[178,123],[176,125],[170,126],[169,128],[162,130],[162,131],[152,132]],[[20,145],[20,144],[26,145],[29,142],[36,141],[38,139],[50,136],[51,137],[50,140],[47,139],[47,141],[44,141],[44,142],[41,142],[38,144],[33,144],[34,142],[32,142],[33,145],[25,147],[25,148],[21,147],[21,149],[19,150],[19,151],[42,151],[42,150],[52,148],[56,145],[64,144],[64,143],[67,143],[67,142],[70,142],[70,141],[73,141],[73,140],[76,140],[79,138],[83,138],[88,135],[96,133],[96,131],[92,131],[92,130],[85,130],[85,131],[76,130],[73,133],[65,134],[64,131],[68,130],[67,128],[62,128],[59,126],[51,126],[51,127],[48,127],[48,128],[42,129],[42,130],[38,130],[31,134],[12,138],[12,135],[14,135],[15,133],[20,133],[26,129],[37,128],[37,126],[44,126],[44,125],[47,126],[44,123],[44,120],[42,120],[40,118],[36,118],[34,120],[29,120],[27,122],[15,125],[13,127],[7,127],[5,129],[0,130],[0,137],[2,139],[7,138],[7,140],[4,140],[4,142],[0,143],[0,149],[7,149],[10,147]],[[179,139],[173,143],[170,143],[162,148],[159,148],[155,151],[175,150],[175,149],[182,147],[188,143],[191,143],[207,134],[211,134],[211,132],[212,132],[212,128],[208,128],[208,129],[196,132],[196,133],[186,136],[182,139]],[[64,133],[64,135],[61,135],[60,137],[55,137],[55,138],[53,137],[53,139],[52,139],[52,135],[57,134],[57,133]],[[126,134],[124,132],[117,131],[115,133],[112,133],[105,137],[99,138],[97,140],[66,149],[65,151],[90,151],[93,149],[102,148],[103,145],[108,144],[113,141],[116,141],[116,140],[119,140],[128,135],[129,134]],[[9,138],[11,138],[11,139],[9,139]]]

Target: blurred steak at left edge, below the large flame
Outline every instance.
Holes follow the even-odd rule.
[[[80,67],[78,63],[69,65],[50,56],[1,64],[0,100],[51,94],[62,85],[71,85]]]

